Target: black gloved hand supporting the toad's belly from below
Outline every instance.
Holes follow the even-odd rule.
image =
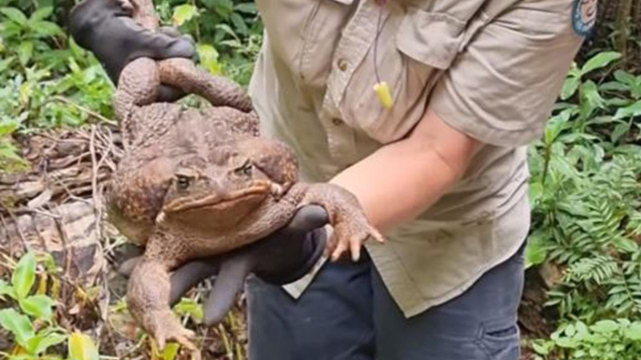
[[[174,306],[199,282],[217,275],[204,303],[204,323],[212,325],[220,322],[231,309],[247,275],[254,274],[276,285],[300,279],[325,250],[327,236],[323,226],[328,220],[324,208],[304,206],[288,225],[263,240],[229,254],[197,259],[181,266],[171,277],[170,305]],[[119,271],[131,274],[137,261],[138,258],[126,261]]]

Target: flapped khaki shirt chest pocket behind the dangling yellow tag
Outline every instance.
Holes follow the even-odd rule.
[[[343,120],[379,143],[406,136],[423,117],[438,75],[449,69],[484,20],[483,16],[461,20],[421,8],[392,13],[376,51],[372,36],[369,52],[345,86],[339,102]],[[377,71],[380,80],[390,86],[394,99],[390,110],[373,90]]]

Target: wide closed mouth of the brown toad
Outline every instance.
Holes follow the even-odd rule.
[[[272,183],[257,183],[249,188],[235,190],[228,193],[209,193],[203,196],[192,196],[173,200],[165,204],[163,210],[167,212],[181,212],[202,208],[232,208],[235,204],[255,200],[260,201],[268,195],[280,195],[281,186]]]

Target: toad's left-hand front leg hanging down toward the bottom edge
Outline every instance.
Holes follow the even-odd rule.
[[[166,241],[159,242],[157,237],[149,238],[145,255],[131,274],[127,289],[129,311],[156,340],[158,347],[164,348],[167,340],[175,340],[185,348],[195,350],[194,343],[190,341],[194,332],[185,329],[169,307],[172,261],[163,259],[162,254],[179,254],[176,251],[179,249],[165,249]]]

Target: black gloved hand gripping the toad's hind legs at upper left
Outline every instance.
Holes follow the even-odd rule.
[[[84,0],[69,14],[69,31],[78,45],[88,49],[103,64],[104,70],[118,85],[122,69],[140,57],[156,60],[193,58],[196,47],[192,38],[171,28],[151,31],[131,19],[131,8],[119,0]],[[175,101],[184,94],[171,86],[162,86],[159,101]]]

